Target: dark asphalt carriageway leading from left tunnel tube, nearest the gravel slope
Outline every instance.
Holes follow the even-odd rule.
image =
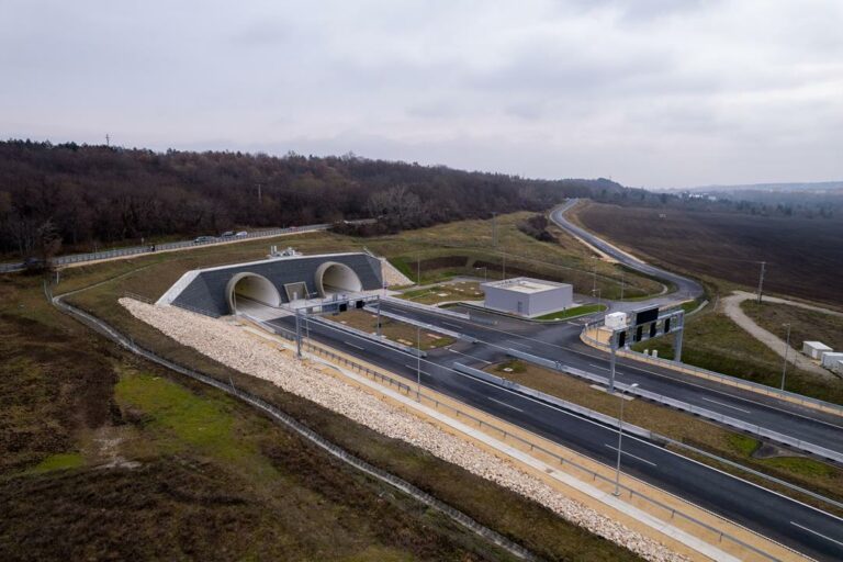
[[[295,318],[292,316],[277,318],[269,324],[286,331],[295,330]],[[339,328],[318,323],[308,324],[307,330],[313,339],[416,381],[415,356]],[[482,358],[477,355],[476,345],[459,342],[451,346],[460,349],[440,349],[422,360],[424,386],[609,467],[614,465],[617,457],[617,429],[454,371],[451,368],[454,362],[469,362],[470,358],[461,353]],[[493,348],[487,351],[493,351]],[[632,436],[623,440],[622,457],[622,470],[627,474],[810,557],[843,560],[843,519]]]

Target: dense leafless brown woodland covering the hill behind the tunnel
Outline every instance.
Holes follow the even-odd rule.
[[[0,251],[37,256],[162,236],[380,217],[372,233],[617,200],[609,180],[528,180],[355,155],[156,153],[0,143]]]

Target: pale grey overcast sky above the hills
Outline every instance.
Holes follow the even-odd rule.
[[[843,1],[0,0],[0,136],[843,179]]]

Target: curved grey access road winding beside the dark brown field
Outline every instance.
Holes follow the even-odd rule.
[[[553,224],[555,224],[563,231],[567,232],[569,234],[573,235],[574,237],[580,238],[581,240],[587,243],[591,246],[594,246],[602,252],[606,254],[607,256],[611,257],[612,259],[617,260],[618,262],[622,263],[629,269],[632,269],[645,276],[657,278],[662,281],[673,284],[676,288],[675,291],[672,293],[674,295],[672,300],[674,301],[677,293],[678,295],[682,295],[683,297],[687,297],[687,299],[697,299],[702,295],[704,293],[702,285],[699,284],[697,281],[694,281],[693,279],[688,279],[686,277],[679,276],[678,273],[673,273],[672,271],[667,271],[665,269],[657,268],[655,266],[651,266],[650,263],[641,261],[634,256],[631,256],[616,248],[615,246],[607,243],[603,238],[599,238],[598,236],[589,233],[585,228],[582,228],[571,223],[565,217],[565,212],[567,212],[571,207],[573,207],[578,201],[580,201],[578,199],[571,199],[565,204],[560,205],[553,211],[551,211],[550,220],[553,222]],[[653,299],[652,301],[636,302],[632,304],[634,305],[634,307],[640,307],[649,303],[656,304],[656,301],[663,301],[663,299],[656,297],[656,299]]]

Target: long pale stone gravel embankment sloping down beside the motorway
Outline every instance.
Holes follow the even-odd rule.
[[[233,324],[181,308],[155,306],[131,299],[121,299],[120,303],[140,321],[232,369],[271,381],[286,392],[342,414],[382,435],[425,449],[442,460],[533,499],[566,520],[648,560],[686,560],[655,540],[564,496],[514,464],[381,402],[356,386],[284,356]]]

